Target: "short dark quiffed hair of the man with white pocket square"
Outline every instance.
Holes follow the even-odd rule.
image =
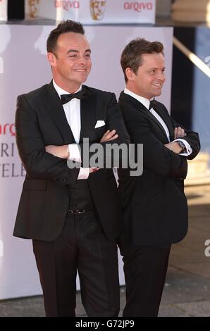
[[[85,30],[80,22],[74,20],[63,20],[58,26],[52,30],[47,38],[47,51],[54,53],[56,51],[57,40],[59,35],[67,32],[76,32],[85,35]]]

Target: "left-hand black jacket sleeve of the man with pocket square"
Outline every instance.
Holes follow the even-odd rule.
[[[69,169],[66,159],[45,151],[36,110],[26,96],[18,96],[16,109],[16,142],[27,175],[32,179],[57,180],[63,185],[74,185],[78,168]]]

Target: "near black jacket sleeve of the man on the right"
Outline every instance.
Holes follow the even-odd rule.
[[[173,153],[153,134],[149,122],[140,111],[130,107],[123,111],[125,123],[130,134],[130,141],[143,144],[144,168],[154,171],[163,177],[185,178],[187,175],[186,158]]]

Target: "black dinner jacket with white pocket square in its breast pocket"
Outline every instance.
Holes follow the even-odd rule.
[[[106,130],[116,129],[115,143],[128,144],[121,111],[113,93],[82,86],[85,99],[80,103],[82,138],[100,142]],[[97,120],[106,125],[95,128]],[[70,169],[66,159],[45,151],[47,145],[75,143],[61,100],[53,83],[18,96],[16,141],[26,170],[13,235],[39,240],[53,240],[60,234],[68,211],[69,189],[78,179],[79,169]],[[102,146],[112,142],[102,143]],[[100,169],[87,179],[94,206],[104,232],[116,238],[121,230],[121,205],[112,169]]]

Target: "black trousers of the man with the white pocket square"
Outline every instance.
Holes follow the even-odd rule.
[[[56,240],[33,240],[33,249],[47,316],[75,316],[77,270],[87,316],[118,316],[117,246],[94,212],[71,214]]]

